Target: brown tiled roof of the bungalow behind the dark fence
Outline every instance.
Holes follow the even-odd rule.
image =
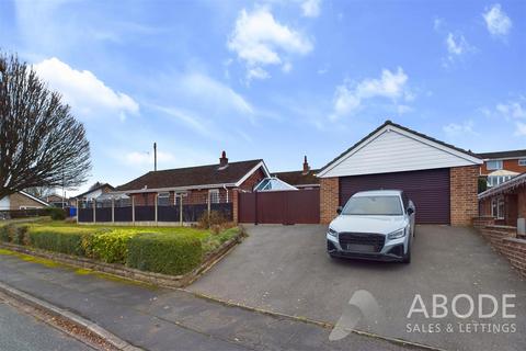
[[[185,188],[195,185],[231,184],[241,180],[263,160],[229,162],[220,168],[218,163],[150,171],[133,181],[119,185],[117,191],[145,189]]]

